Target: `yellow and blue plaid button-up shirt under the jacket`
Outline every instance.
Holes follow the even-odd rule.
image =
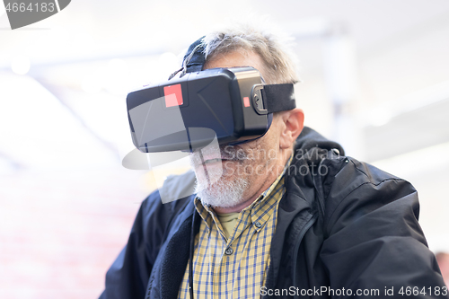
[[[195,298],[260,297],[260,287],[265,283],[269,267],[277,206],[286,192],[283,175],[240,212],[229,239],[214,210],[195,198],[198,214],[203,219],[193,254]],[[189,264],[178,298],[189,298]]]

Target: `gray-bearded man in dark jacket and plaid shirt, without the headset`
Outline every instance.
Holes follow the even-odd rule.
[[[252,66],[266,84],[296,82],[277,38],[246,26],[208,34],[187,57],[188,72]],[[264,136],[220,145],[220,159],[191,154],[197,194],[145,199],[101,298],[447,297],[417,191],[303,123],[300,109],[277,112]]]

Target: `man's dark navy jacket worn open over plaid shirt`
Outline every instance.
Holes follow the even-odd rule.
[[[384,297],[387,291],[406,297],[407,287],[425,287],[426,295],[414,298],[431,297],[429,290],[435,295],[434,288],[445,284],[418,224],[417,191],[343,153],[310,128],[298,137],[261,295],[357,297],[361,290],[364,298]],[[178,189],[187,185],[181,180],[186,179],[174,180]],[[176,298],[192,227],[198,231],[200,217],[192,225],[194,213],[193,196],[168,204],[162,204],[159,191],[146,198],[127,246],[106,275],[101,298]]]

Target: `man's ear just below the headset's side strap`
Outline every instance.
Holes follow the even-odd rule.
[[[291,148],[304,128],[304,111],[298,108],[281,112],[284,126],[280,132],[279,147]]]

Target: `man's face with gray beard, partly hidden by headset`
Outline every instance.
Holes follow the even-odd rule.
[[[263,72],[262,61],[255,53],[233,52],[208,61],[204,68],[233,66],[252,66]],[[241,145],[206,147],[191,154],[197,192],[203,204],[235,207],[256,195],[267,180],[272,180],[279,154],[278,123],[275,117],[267,134],[259,139]]]

